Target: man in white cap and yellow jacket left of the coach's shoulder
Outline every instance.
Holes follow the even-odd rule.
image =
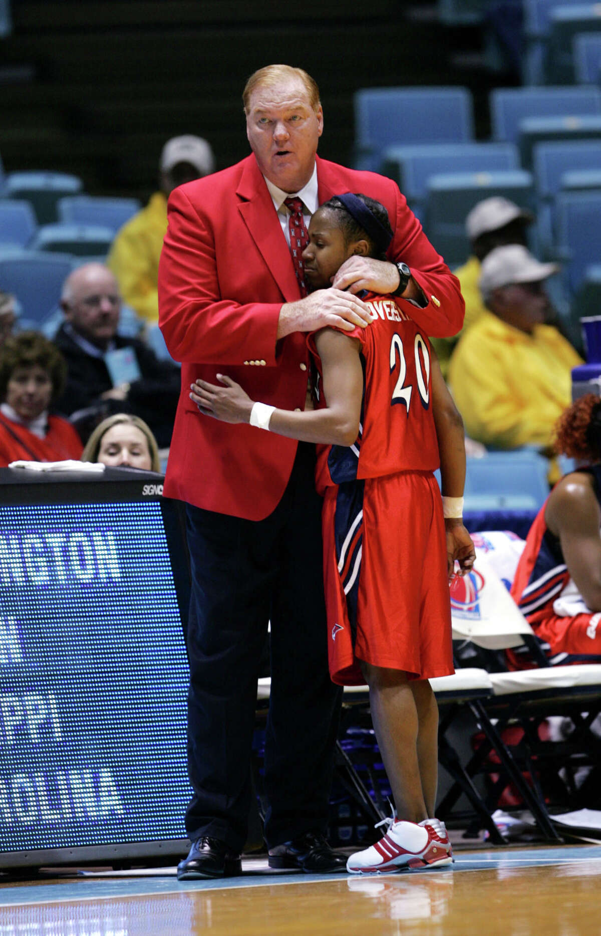
[[[149,322],[158,320],[158,259],[167,230],[167,199],[174,188],[211,175],[213,150],[206,139],[186,134],[163,147],[160,192],[121,228],[110,248],[108,266],[117,277],[123,300]]]

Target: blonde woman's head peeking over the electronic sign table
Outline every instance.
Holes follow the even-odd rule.
[[[143,419],[129,413],[103,419],[86,442],[81,461],[99,461],[110,468],[161,470],[153,432]]]

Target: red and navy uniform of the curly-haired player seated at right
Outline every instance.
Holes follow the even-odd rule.
[[[601,466],[579,471],[594,476],[594,490],[601,504]],[[547,502],[530,528],[511,594],[542,641],[551,665],[599,663],[601,614],[586,607],[570,577],[560,541],[547,528],[546,506]],[[514,668],[535,666],[527,651],[514,650],[507,656]]]

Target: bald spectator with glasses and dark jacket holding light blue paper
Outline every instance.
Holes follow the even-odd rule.
[[[54,343],[66,359],[66,389],[58,402],[74,417],[85,441],[111,413],[134,413],[169,447],[180,394],[180,370],[156,358],[137,338],[117,334],[121,296],[115,277],[101,263],[70,273],[61,305],[66,321]],[[78,411],[86,411],[80,418]]]

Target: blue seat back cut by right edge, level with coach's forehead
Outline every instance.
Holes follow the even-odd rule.
[[[492,139],[516,143],[525,118],[601,114],[601,89],[583,85],[493,88],[489,103]]]

